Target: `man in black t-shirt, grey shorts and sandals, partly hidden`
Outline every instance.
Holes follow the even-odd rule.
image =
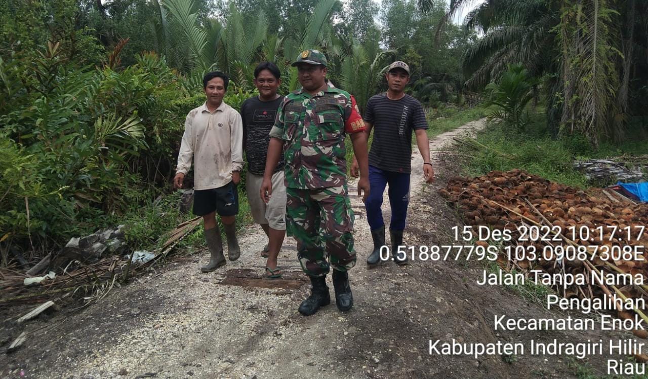
[[[268,236],[268,245],[261,256],[266,262],[266,278],[280,278],[277,255],[286,234],[286,186],[284,185],[283,157],[272,175],[272,198],[266,204],[259,197],[263,174],[266,169],[270,129],[275,123],[277,109],[283,97],[277,95],[281,86],[281,71],[271,62],[261,62],[254,70],[254,84],[259,96],[250,97],[241,106],[243,119],[243,149],[248,158],[246,191],[249,207],[256,223]]]

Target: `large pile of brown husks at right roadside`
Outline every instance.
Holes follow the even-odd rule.
[[[539,259],[509,260],[500,250],[498,263],[508,269],[527,271],[539,269],[547,273],[631,273],[646,276],[648,254],[645,246],[648,245],[648,230],[639,236],[643,226],[648,224],[648,205],[634,204],[623,199],[616,199],[610,193],[605,196],[590,195],[582,190],[562,186],[538,177],[529,175],[518,169],[512,171],[491,171],[487,175],[475,178],[454,178],[448,181],[445,189],[439,190],[441,195],[455,204],[463,216],[465,225],[484,225],[492,229],[507,229],[513,238],[507,242],[512,245],[535,245],[538,252],[546,246],[571,245],[575,248],[587,246],[588,252],[594,252],[593,246],[616,245],[637,246],[642,252],[643,261],[636,260],[601,260],[599,256],[587,254],[586,260],[556,260]],[[520,226],[544,227],[551,230],[549,236],[557,236],[557,241],[519,241]],[[610,235],[616,226],[619,230],[630,227],[630,238],[627,233],[618,232],[618,236]],[[570,227],[576,233],[570,232]],[[597,227],[601,232],[597,231]],[[581,228],[592,231],[592,239],[581,240]],[[559,231],[559,232],[558,232]],[[586,232],[586,230],[584,230]],[[585,233],[583,233],[585,234]],[[602,234],[603,238],[600,238]],[[620,238],[620,239],[619,239]],[[555,257],[554,257],[555,258]],[[592,259],[593,258],[593,259]],[[648,299],[648,286],[595,286],[591,283],[585,286],[570,286],[555,288],[564,297],[612,297],[615,294],[619,299],[627,297]],[[635,309],[646,322],[646,310]],[[630,312],[631,313],[631,312]],[[627,318],[629,312],[618,312],[619,317]]]

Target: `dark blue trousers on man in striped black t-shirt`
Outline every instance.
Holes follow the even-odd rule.
[[[410,204],[410,174],[384,171],[369,165],[369,197],[365,201],[367,221],[371,230],[385,225],[382,219],[382,194],[389,184],[389,206],[391,206],[391,230],[404,230],[407,206]]]

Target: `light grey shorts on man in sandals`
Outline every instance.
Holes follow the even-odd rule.
[[[246,175],[246,192],[249,209],[257,224],[268,224],[275,230],[286,230],[286,186],[284,172],[280,170],[272,175],[272,197],[268,204],[259,195],[263,177],[248,172]]]

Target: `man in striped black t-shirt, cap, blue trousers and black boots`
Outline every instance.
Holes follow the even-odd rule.
[[[400,249],[403,230],[410,202],[410,156],[411,132],[416,134],[417,145],[423,157],[423,176],[428,183],[434,181],[434,169],[430,163],[430,145],[426,129],[428,123],[421,103],[404,89],[410,80],[410,67],[404,62],[393,62],[385,75],[388,90],[367,101],[364,112],[367,140],[371,130],[373,142],[369,150],[369,197],[365,201],[367,221],[373,238],[373,251],[367,258],[368,265],[380,260],[380,247],[385,244],[385,224],[382,219],[382,194],[389,185],[391,206],[391,253],[396,263],[407,263],[406,250]],[[357,177],[358,164],[354,158],[351,175]]]

